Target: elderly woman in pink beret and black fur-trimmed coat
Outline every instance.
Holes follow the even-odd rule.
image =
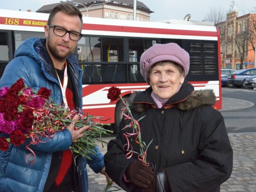
[[[123,119],[117,137],[104,156],[106,172],[129,192],[219,192],[232,172],[233,151],[220,112],[212,106],[212,90],[194,91],[184,80],[189,54],[175,43],[155,44],[140,59],[140,71],[150,85],[131,103],[139,119],[141,138],[150,143],[145,166],[137,154],[126,157],[123,146],[139,151],[135,137],[128,141]],[[151,165],[154,165],[151,167]]]

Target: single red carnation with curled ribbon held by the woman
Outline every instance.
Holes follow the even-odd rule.
[[[122,115],[125,117],[126,120],[127,119],[130,120],[130,123],[123,128],[124,136],[127,140],[127,143],[123,146],[123,150],[127,152],[126,158],[129,159],[132,157],[133,153],[137,153],[138,160],[140,160],[143,165],[148,166],[149,163],[146,161],[146,151],[147,151],[147,147],[150,145],[150,143],[153,140],[151,140],[151,142],[148,145],[146,145],[146,143],[141,140],[140,125],[139,125],[138,121],[140,119],[142,119],[143,117],[141,117],[138,120],[136,120],[132,117],[131,110],[128,105],[128,101],[121,96],[121,90],[118,87],[110,87],[107,97],[108,97],[108,99],[110,99],[110,102],[113,102],[115,100],[121,100],[123,103],[123,106],[124,106],[124,108],[121,109]],[[128,133],[126,131],[127,128],[132,128],[133,131]],[[139,152],[133,151],[132,146],[129,143],[128,137],[131,137],[134,135],[136,135],[135,140],[136,140],[136,143],[139,144],[139,147],[140,147]]]

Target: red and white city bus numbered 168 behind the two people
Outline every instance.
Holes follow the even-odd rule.
[[[0,9],[0,76],[18,46],[30,37],[45,37],[49,14]],[[84,71],[84,114],[102,117],[117,130],[122,117],[120,101],[107,99],[112,86],[122,97],[149,85],[140,74],[141,54],[155,43],[175,42],[190,54],[186,80],[195,90],[212,89],[221,109],[219,29],[209,22],[171,19],[164,22],[83,17],[82,38],[74,54]]]

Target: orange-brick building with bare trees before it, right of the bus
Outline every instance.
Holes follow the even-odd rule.
[[[227,19],[218,23],[220,33],[220,60],[222,68],[254,68],[256,14],[238,17],[238,11],[227,13]]]

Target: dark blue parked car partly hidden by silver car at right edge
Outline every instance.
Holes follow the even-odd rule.
[[[245,80],[247,77],[252,75],[256,75],[256,68],[240,69],[235,73],[228,75],[227,84],[233,84],[236,87],[247,88],[245,85]]]

